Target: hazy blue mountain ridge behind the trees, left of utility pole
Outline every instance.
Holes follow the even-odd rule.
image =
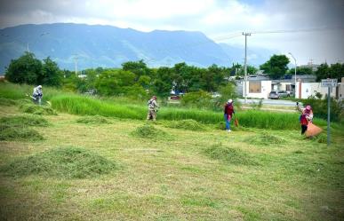
[[[197,67],[229,67],[242,60],[236,52],[239,49],[214,43],[201,32],[140,32],[72,23],[20,25],[0,29],[0,74],[11,59],[19,58],[28,49],[38,59],[50,56],[66,69],[75,68],[75,58],[78,69],[120,67],[125,61],[139,59],[144,59],[149,67],[183,61]]]

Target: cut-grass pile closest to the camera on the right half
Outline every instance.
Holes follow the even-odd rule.
[[[212,145],[204,150],[204,154],[214,160],[220,160],[235,165],[258,165],[252,157],[240,149],[223,146],[221,143]]]

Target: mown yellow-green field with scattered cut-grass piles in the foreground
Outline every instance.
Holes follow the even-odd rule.
[[[42,138],[0,140],[0,220],[344,218],[340,124],[329,147],[299,130],[76,114],[37,123],[1,105],[0,130]]]

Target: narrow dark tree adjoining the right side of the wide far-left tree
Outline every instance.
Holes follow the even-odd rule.
[[[60,87],[62,83],[62,72],[57,63],[52,61],[50,57],[44,59],[42,75],[38,75],[37,83]]]

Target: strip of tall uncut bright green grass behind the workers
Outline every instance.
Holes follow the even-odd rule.
[[[1,83],[0,97],[22,99],[31,93],[32,86],[12,83]],[[102,115],[126,119],[146,119],[148,108],[146,102],[131,102],[129,99],[96,99],[70,92],[44,87],[44,99],[52,102],[52,108],[69,114]],[[300,114],[276,113],[260,110],[237,112],[236,117],[241,126],[271,129],[300,129]],[[222,112],[200,110],[196,108],[162,107],[157,113],[157,120],[180,121],[192,119],[196,122],[219,124],[223,122]],[[315,119],[316,125],[325,126],[324,120]]]

